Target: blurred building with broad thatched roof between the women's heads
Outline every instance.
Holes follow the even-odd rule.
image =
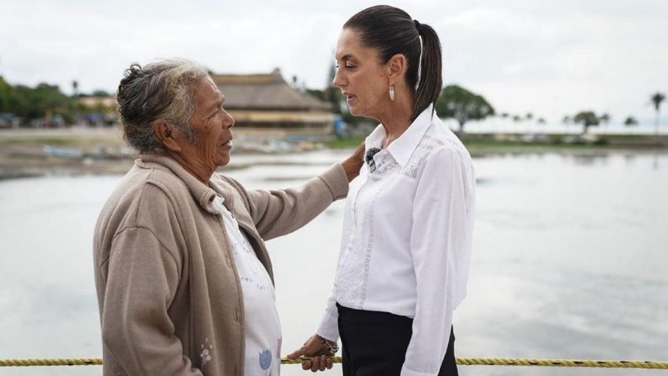
[[[235,127],[331,132],[331,104],[289,86],[280,70],[261,75],[212,75]]]

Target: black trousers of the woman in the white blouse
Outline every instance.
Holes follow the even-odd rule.
[[[399,376],[413,334],[413,319],[387,312],[359,311],[336,304],[343,345],[344,376]],[[454,331],[450,329],[438,376],[457,376]]]

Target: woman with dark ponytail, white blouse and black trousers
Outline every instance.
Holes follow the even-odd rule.
[[[434,106],[442,86],[434,29],[374,6],[344,24],[334,85],[350,113],[381,124],[351,182],[337,274],[316,334],[288,357],[345,376],[457,375],[452,318],[466,295],[475,175]]]

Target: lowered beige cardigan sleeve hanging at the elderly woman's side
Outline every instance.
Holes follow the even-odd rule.
[[[127,375],[201,376],[168,316],[180,267],[148,228],[114,237],[104,286],[102,342]]]

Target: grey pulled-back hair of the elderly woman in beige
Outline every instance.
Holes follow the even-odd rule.
[[[162,120],[195,143],[196,135],[188,121],[196,111],[195,88],[208,75],[202,65],[182,59],[162,60],[144,67],[132,63],[116,93],[125,142],[138,152],[164,152],[153,131],[153,123]]]

